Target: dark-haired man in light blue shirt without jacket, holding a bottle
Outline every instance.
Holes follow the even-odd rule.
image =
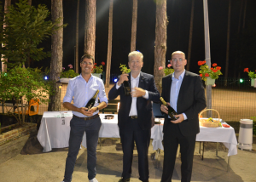
[[[67,154],[65,176],[63,182],[72,180],[73,168],[79,153],[84,132],[87,144],[87,168],[90,182],[97,182],[96,177],[96,146],[102,121],[98,115],[99,110],[108,104],[102,79],[91,75],[94,59],[90,54],[84,54],[80,61],[81,74],[68,82],[67,93],[63,99],[63,106],[73,111],[70,121],[69,149]],[[86,108],[88,101],[99,90],[95,105]],[[73,104],[71,101],[73,100]],[[100,103],[98,103],[100,100]]]

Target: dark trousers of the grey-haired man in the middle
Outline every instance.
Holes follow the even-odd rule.
[[[129,127],[119,129],[119,134],[123,147],[123,173],[124,179],[131,178],[131,163],[134,149],[134,141],[138,153],[138,172],[140,180],[148,181],[148,146],[151,136],[151,129],[143,130],[139,127],[137,119],[129,119]]]

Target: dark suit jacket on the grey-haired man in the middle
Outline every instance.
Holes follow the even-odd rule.
[[[131,73],[129,73],[128,79],[131,85]],[[148,100],[143,97],[137,98],[137,120],[143,130],[150,129],[154,126],[154,115],[151,101],[159,102],[160,94],[155,87],[154,77],[144,72],[140,73],[138,87],[148,90]],[[123,84],[119,89],[116,89],[116,85],[114,85],[108,93],[108,99],[114,100],[119,95],[120,105],[118,125],[120,129],[125,129],[125,127],[129,126],[129,123],[127,124],[127,120],[131,110],[131,96],[125,96]]]

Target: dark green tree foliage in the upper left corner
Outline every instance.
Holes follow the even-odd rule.
[[[50,52],[44,52],[44,48],[38,48],[45,38],[51,36],[60,26],[58,21],[52,23],[46,20],[49,17],[49,10],[45,5],[38,5],[38,8],[30,6],[27,0],[20,0],[16,5],[9,7],[9,12],[4,20],[0,20],[1,48],[3,57],[9,61],[5,64],[8,67],[24,64],[28,58],[32,60],[43,60],[50,56]]]

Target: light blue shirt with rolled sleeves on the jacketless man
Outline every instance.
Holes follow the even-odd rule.
[[[108,105],[108,98],[105,93],[104,83],[102,79],[95,77],[93,75],[90,76],[88,82],[84,80],[84,78],[79,75],[78,77],[74,77],[68,82],[67,85],[67,92],[63,99],[64,102],[69,102],[73,100],[73,105],[80,108],[84,107],[87,102],[96,94],[96,90],[99,90],[99,94],[96,97],[96,103],[94,106],[99,105],[98,100],[101,102],[106,102]],[[77,111],[72,111],[73,115],[77,117],[87,117],[84,116],[82,113]],[[93,113],[96,115],[99,111]]]

